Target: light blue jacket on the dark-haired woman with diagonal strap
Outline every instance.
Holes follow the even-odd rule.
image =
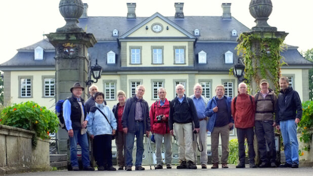
[[[104,113],[111,125],[96,107]],[[88,116],[87,130],[89,135],[112,135],[112,128],[116,130],[117,123],[114,114],[108,106],[104,105],[104,103],[95,103],[95,106],[90,108]]]

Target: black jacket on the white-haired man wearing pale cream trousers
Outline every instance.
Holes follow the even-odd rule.
[[[192,99],[184,95],[184,100],[180,103],[178,98],[175,97],[170,107],[170,130],[173,129],[174,123],[191,123],[192,121],[194,122],[194,127],[199,128],[198,114]]]

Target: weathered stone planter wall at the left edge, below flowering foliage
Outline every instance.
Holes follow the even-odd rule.
[[[38,139],[32,149],[33,131],[0,124],[0,175],[51,170],[49,141]]]

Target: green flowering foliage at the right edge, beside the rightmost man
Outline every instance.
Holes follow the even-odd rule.
[[[301,150],[309,151],[310,142],[312,141],[311,128],[313,127],[313,101],[302,103],[302,118],[298,123],[298,131],[301,133],[300,141],[307,144]],[[299,153],[302,154],[301,150]]]

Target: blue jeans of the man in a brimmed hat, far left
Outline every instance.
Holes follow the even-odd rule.
[[[80,129],[73,129],[74,136],[73,138],[69,138],[69,147],[70,147],[70,162],[72,167],[78,167],[77,161],[77,142],[80,144],[82,148],[82,161],[83,166],[88,167],[90,166],[89,160],[89,145],[88,145],[88,138],[87,133],[81,135]]]

